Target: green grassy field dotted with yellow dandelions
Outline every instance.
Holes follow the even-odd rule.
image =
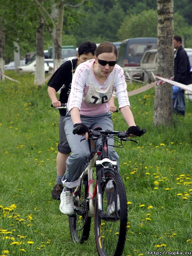
[[[57,110],[33,75],[7,72],[0,83],[0,255],[96,256],[93,221],[85,244],[71,241],[68,218],[51,198],[56,179]],[[131,91],[141,86],[127,86]],[[129,98],[135,122],[147,132],[118,148],[127,190],[124,256],[192,251],[192,102],[174,125],[153,126],[154,88]],[[116,130],[127,130],[121,114]]]

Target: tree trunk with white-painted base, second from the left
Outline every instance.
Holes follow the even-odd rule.
[[[43,0],[41,1],[43,3]],[[35,64],[35,81],[39,83],[45,79],[45,67],[44,67],[44,21],[39,17],[38,27],[36,29],[36,64]]]

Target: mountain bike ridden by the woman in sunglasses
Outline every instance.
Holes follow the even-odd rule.
[[[79,129],[77,126],[73,133]],[[141,135],[145,129],[141,131]],[[74,213],[69,216],[69,228],[73,242],[84,243],[89,236],[91,217],[94,217],[95,240],[100,256],[119,256],[123,252],[127,231],[127,199],[116,161],[108,156],[108,139],[120,142],[130,140],[120,131],[103,131],[100,127],[89,130],[90,140],[101,138],[96,153],[91,154],[81,174],[80,185],[74,188]],[[85,139],[82,139],[85,140]]]

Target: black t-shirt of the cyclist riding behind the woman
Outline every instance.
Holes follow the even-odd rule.
[[[75,69],[77,65],[77,59],[72,60],[73,69]],[[71,60],[65,61],[53,74],[48,84],[50,87],[54,88],[56,92],[61,89],[59,101],[61,103],[66,103],[69,97],[69,90],[71,90],[72,83],[72,65]],[[68,94],[67,94],[68,93]],[[59,113],[61,116],[66,115],[66,109],[59,109]]]

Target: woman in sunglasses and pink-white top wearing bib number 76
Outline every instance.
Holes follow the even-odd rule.
[[[136,126],[127,96],[127,84],[123,69],[116,64],[117,48],[111,42],[101,43],[95,53],[95,59],[80,64],[73,76],[71,93],[67,102],[68,114],[65,116],[65,133],[72,154],[66,161],[66,172],[62,179],[65,188],[61,193],[60,211],[73,214],[73,188],[80,184],[80,175],[90,156],[88,146],[88,129],[100,126],[102,130],[113,130],[109,100],[115,89],[119,109],[127,122],[131,137],[140,135]],[[80,130],[73,135],[73,129],[79,125]],[[86,140],[80,141],[85,135]],[[97,140],[96,146],[101,141]],[[109,159],[117,161],[119,156],[113,148],[114,140],[108,140]]]

